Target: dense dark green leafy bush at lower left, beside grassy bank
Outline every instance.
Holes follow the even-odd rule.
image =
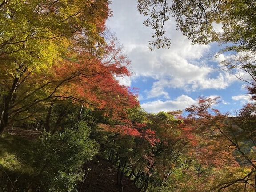
[[[35,171],[33,191],[72,192],[83,177],[82,165],[97,152],[97,145],[88,139],[90,130],[80,122],[73,129],[53,135],[44,132],[30,156],[22,157]]]

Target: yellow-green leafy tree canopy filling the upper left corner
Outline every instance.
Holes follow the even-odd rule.
[[[93,16],[97,15],[97,16]],[[9,124],[17,88],[31,74],[47,73],[68,53],[100,54],[108,0],[6,0],[0,9],[0,133]]]

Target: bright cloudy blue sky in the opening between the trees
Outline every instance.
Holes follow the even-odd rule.
[[[137,11],[137,0],[112,0],[110,8],[113,16],[107,28],[123,45],[133,74],[118,80],[139,88],[140,104],[147,112],[184,110],[200,96],[220,96],[215,107],[221,112],[234,113],[248,102],[244,82],[220,70],[219,62],[226,56],[215,57],[217,43],[191,45],[170,20],[165,24],[170,48],[150,51],[153,31],[143,26],[146,17]],[[215,30],[221,27],[215,25]]]

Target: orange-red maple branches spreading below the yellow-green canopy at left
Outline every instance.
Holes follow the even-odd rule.
[[[9,108],[5,110],[5,114],[8,113],[6,122],[22,122],[36,116],[47,116],[48,121],[54,104],[64,100],[103,110],[105,115],[116,118],[125,113],[125,108],[137,105],[132,90],[115,80],[114,76],[130,75],[126,68],[129,60],[115,42],[112,39],[105,45],[101,56],[94,56],[91,52],[68,55],[60,64],[48,67],[47,72],[24,72]],[[2,72],[4,79],[0,101],[4,105],[4,93],[12,86],[12,76]],[[1,130],[8,124],[2,124]]]

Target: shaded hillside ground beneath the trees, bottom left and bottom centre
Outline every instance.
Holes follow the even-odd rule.
[[[8,130],[7,130],[8,131]],[[35,174],[35,170],[23,164],[20,156],[28,154],[29,148],[39,132],[28,130],[13,130],[0,137],[0,192],[19,190]],[[19,136],[17,136],[19,135]],[[28,136],[29,135],[29,136]],[[99,158],[97,164],[90,161],[84,165],[84,182],[78,185],[79,192],[120,192],[116,185],[117,168],[108,160]],[[94,167],[93,167],[94,165]],[[25,188],[24,188],[25,189]],[[123,192],[140,192],[132,180],[123,179]]]

